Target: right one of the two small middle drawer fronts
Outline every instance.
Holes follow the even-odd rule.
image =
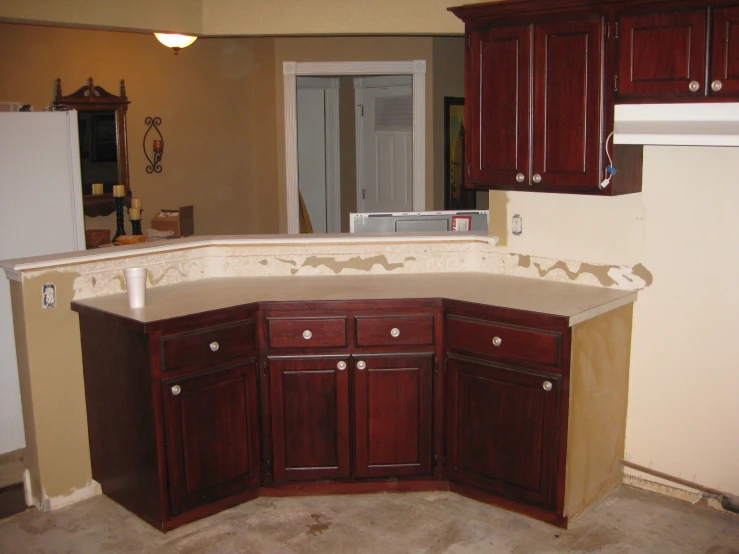
[[[434,316],[357,316],[357,346],[434,343]]]

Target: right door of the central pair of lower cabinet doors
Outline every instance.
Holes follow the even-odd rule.
[[[356,476],[430,475],[432,355],[358,356],[354,366]]]

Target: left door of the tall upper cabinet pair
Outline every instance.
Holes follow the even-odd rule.
[[[528,188],[531,27],[473,32],[469,55],[471,181]]]

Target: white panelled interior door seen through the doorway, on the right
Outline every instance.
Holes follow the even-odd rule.
[[[410,76],[355,79],[360,212],[413,210],[413,87]]]

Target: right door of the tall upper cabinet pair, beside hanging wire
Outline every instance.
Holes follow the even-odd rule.
[[[602,28],[600,20],[536,26],[533,190],[598,186]]]

